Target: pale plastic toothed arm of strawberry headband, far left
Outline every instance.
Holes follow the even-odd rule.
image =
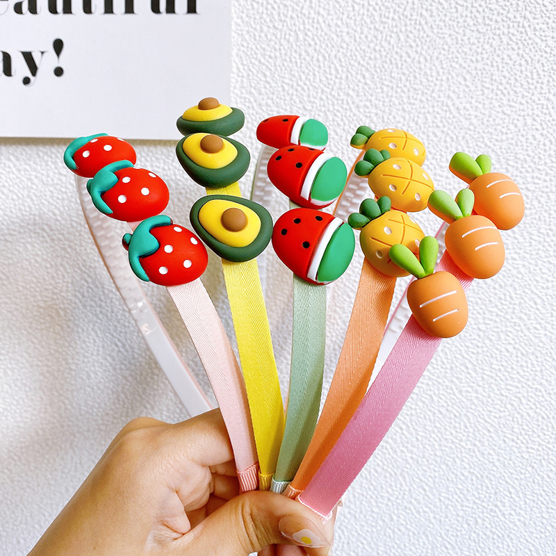
[[[129,268],[126,252],[122,249],[122,238],[115,225],[92,204],[87,181],[87,178],[75,177],[79,202],[91,236],[118,293],[188,414],[195,416],[212,409],[197,379],[181,359],[138,278]]]

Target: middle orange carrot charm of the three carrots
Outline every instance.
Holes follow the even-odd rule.
[[[436,216],[449,224],[446,251],[459,268],[473,278],[490,278],[504,264],[504,243],[491,220],[471,215],[474,201],[475,195],[469,189],[462,189],[455,201],[445,191],[436,190],[428,204]]]

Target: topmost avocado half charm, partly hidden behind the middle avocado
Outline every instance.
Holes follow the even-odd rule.
[[[188,108],[178,118],[176,125],[181,135],[200,131],[229,136],[239,131],[244,122],[245,115],[239,108],[231,108],[220,104],[214,97],[207,97],[200,100],[197,106]]]

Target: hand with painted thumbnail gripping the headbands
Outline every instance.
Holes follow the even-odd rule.
[[[177,425],[133,420],[29,556],[246,556],[272,544],[327,555],[332,524],[276,493],[238,496],[233,458],[218,409]]]

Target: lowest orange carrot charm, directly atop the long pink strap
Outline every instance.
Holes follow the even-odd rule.
[[[390,248],[390,257],[417,280],[407,288],[407,302],[420,326],[431,336],[451,338],[465,327],[467,299],[458,279],[450,272],[434,272],[439,243],[425,236],[419,246],[419,259],[399,243]]]

